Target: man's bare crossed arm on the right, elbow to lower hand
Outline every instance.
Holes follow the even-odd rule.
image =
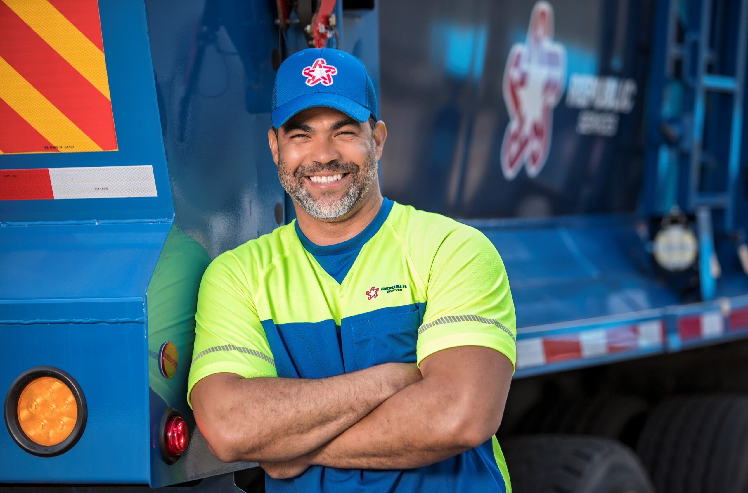
[[[304,458],[343,469],[409,469],[478,447],[499,428],[512,363],[493,349],[459,347],[421,364],[423,380]]]

